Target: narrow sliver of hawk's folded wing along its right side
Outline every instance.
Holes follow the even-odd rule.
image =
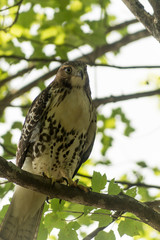
[[[92,151],[93,148],[93,144],[94,144],[94,139],[96,136],[96,122],[97,122],[97,114],[96,114],[96,109],[93,106],[93,112],[92,112],[92,121],[90,123],[90,126],[88,128],[88,132],[87,132],[87,139],[86,139],[86,143],[85,143],[85,149],[84,152],[81,154],[81,161],[79,163],[79,165],[77,166],[73,177],[76,175],[76,173],[78,172],[79,168],[81,167],[81,165],[89,158],[89,155]]]

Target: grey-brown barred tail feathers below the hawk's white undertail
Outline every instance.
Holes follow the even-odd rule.
[[[12,216],[12,204],[0,226],[0,240],[35,240],[41,221],[43,207],[32,217],[23,223],[18,223],[18,219]]]

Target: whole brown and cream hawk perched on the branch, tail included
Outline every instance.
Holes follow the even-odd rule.
[[[17,165],[54,181],[72,183],[92,150],[96,111],[86,64],[64,63],[33,101],[18,144]],[[35,240],[46,196],[16,186],[0,227],[0,240]]]

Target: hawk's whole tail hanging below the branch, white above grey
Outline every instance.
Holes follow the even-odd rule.
[[[0,240],[36,240],[45,199],[41,193],[16,186],[0,225]]]

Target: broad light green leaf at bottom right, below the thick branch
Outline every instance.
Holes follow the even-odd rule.
[[[136,236],[139,235],[140,230],[142,229],[142,223],[132,220],[132,219],[125,219],[121,221],[118,226],[118,232],[122,237],[124,234],[128,236]]]

